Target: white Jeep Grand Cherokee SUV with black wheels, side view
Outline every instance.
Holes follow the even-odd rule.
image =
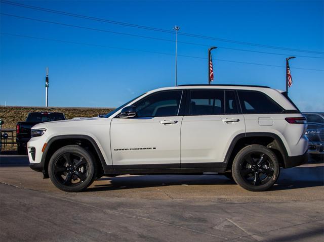
[[[183,85],[148,91],[104,118],[37,124],[30,167],[64,191],[101,176],[223,174],[251,191],[307,161],[306,119],[266,86]]]

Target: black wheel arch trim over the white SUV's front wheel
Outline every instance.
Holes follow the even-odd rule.
[[[105,167],[107,167],[107,164],[105,162],[105,159],[98,147],[98,144],[96,141],[89,135],[58,135],[54,136],[49,139],[47,142],[47,146],[43,152],[41,164],[43,164],[43,175],[44,178],[49,178],[48,174],[48,164],[49,161],[54,154],[55,151],[58,149],[68,146],[70,144],[77,144],[80,147],[83,147],[87,150],[89,150],[96,159],[98,172],[102,175],[104,174]]]

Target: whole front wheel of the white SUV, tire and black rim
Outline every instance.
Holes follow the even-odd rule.
[[[94,156],[79,146],[65,146],[57,150],[49,162],[49,176],[63,191],[82,191],[97,176]]]

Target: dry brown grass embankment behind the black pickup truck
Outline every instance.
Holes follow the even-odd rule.
[[[113,108],[63,108],[63,107],[16,107],[0,106],[0,118],[4,120],[2,128],[16,128],[16,123],[25,121],[29,112],[59,112],[63,113],[67,119],[73,117],[97,117],[99,114],[106,114]]]

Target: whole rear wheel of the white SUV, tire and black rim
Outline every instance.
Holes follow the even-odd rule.
[[[259,144],[240,150],[232,165],[234,181],[249,191],[269,189],[278,179],[279,172],[279,162],[275,154]]]

